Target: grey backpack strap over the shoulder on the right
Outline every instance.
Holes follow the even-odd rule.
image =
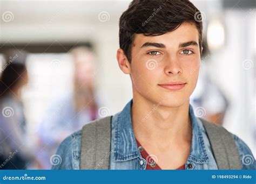
[[[242,169],[240,155],[230,132],[223,126],[199,118],[210,140],[218,169]]]

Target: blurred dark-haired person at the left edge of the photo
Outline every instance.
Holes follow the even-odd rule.
[[[26,169],[35,161],[28,144],[21,90],[28,83],[26,53],[7,51],[0,81],[0,169]]]

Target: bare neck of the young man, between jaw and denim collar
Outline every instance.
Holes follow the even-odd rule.
[[[170,108],[154,104],[144,97],[133,97],[131,113],[134,135],[142,144],[191,143],[189,101]]]

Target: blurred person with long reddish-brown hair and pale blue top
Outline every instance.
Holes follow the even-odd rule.
[[[41,146],[46,150],[41,152],[44,168],[51,168],[51,155],[64,138],[98,118],[98,95],[93,80],[96,57],[84,46],[72,49],[70,54],[75,62],[73,91],[52,103],[39,128]]]

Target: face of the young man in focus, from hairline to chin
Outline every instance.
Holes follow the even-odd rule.
[[[136,34],[131,63],[133,96],[144,97],[166,107],[188,102],[197,84],[200,49],[198,30],[183,23],[178,29],[161,36]]]

